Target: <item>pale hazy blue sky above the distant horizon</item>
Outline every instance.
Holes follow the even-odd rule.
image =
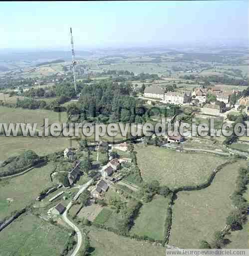
[[[249,1],[0,2],[0,50],[246,43]]]

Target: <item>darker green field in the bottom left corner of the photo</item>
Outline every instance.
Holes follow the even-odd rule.
[[[24,213],[0,232],[0,256],[60,255],[68,231]]]

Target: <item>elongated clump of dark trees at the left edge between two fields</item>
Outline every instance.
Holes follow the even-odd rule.
[[[34,151],[26,150],[18,156],[9,157],[0,165],[0,176],[7,176],[19,173],[35,164],[38,164],[43,159],[40,158]]]

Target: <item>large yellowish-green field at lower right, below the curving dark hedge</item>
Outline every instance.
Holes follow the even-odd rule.
[[[209,187],[177,194],[170,245],[199,248],[200,240],[210,242],[214,232],[224,228],[226,218],[233,209],[230,195],[235,190],[238,169],[245,165],[245,160],[227,165],[217,173]]]

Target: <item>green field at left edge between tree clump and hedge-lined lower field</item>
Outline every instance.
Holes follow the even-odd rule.
[[[19,210],[30,202],[34,201],[39,192],[52,185],[50,172],[53,168],[52,163],[45,166],[34,168],[29,172],[0,181],[0,202],[5,205],[0,207],[0,219],[8,216],[12,211]],[[13,201],[6,206],[6,199],[12,198]]]

